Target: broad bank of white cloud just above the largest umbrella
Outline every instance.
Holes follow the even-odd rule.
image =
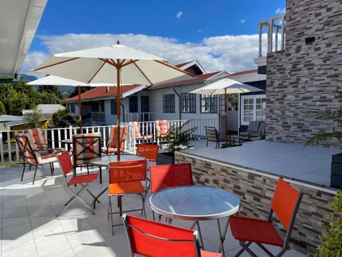
[[[51,53],[62,53],[116,44],[134,47],[169,60],[172,64],[198,60],[207,72],[244,71],[255,69],[259,37],[254,35],[213,36],[200,42],[179,42],[174,38],[146,36],[144,34],[64,34],[38,36],[47,52],[29,52],[22,73],[41,64]],[[265,36],[263,36],[265,38]],[[266,40],[263,40],[265,42]],[[265,46],[263,46],[265,49]],[[33,74],[33,73],[32,73]],[[36,75],[39,73],[36,73]]]

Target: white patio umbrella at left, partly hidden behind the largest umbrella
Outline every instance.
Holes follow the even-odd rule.
[[[28,82],[27,85],[32,86],[77,86],[78,88],[78,100],[79,100],[79,130],[82,131],[82,106],[81,106],[81,86],[116,86],[116,84],[87,84],[83,82],[78,82],[73,79],[66,79],[65,77],[57,77],[54,75],[49,75],[36,79],[34,81]]]

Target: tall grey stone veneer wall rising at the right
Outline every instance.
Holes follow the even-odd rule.
[[[285,50],[267,55],[266,139],[302,143],[341,131],[306,112],[342,110],[342,1],[286,2]]]

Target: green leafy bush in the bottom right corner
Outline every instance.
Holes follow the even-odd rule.
[[[337,191],[334,198],[330,204],[334,214],[330,215],[328,224],[321,224],[324,230],[319,237],[321,245],[318,245],[316,254],[308,254],[308,257],[342,256],[342,193]]]

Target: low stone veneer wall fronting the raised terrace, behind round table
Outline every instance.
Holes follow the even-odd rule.
[[[231,191],[241,199],[238,215],[267,219],[277,177],[246,171],[228,164],[219,164],[188,154],[175,154],[176,163],[191,163],[194,183],[214,186]],[[304,253],[313,253],[319,243],[321,222],[328,223],[332,210],[334,191],[291,182],[291,186],[304,193],[291,236],[291,248]],[[274,215],[274,224],[282,236],[285,230]],[[285,237],[283,237],[285,238]]]

